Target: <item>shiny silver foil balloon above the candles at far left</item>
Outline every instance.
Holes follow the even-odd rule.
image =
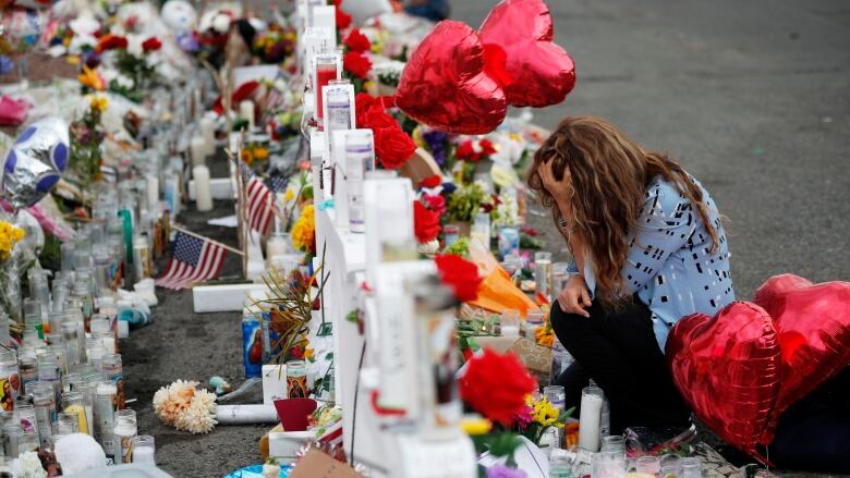
[[[68,167],[68,124],[59,118],[36,121],[21,133],[3,162],[3,197],[20,209],[38,203]]]

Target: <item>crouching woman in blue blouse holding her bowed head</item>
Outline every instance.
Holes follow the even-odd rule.
[[[612,124],[567,118],[534,157],[529,186],[575,258],[551,324],[575,358],[559,378],[568,404],[588,379],[610,402],[611,432],[689,426],[664,355],[670,328],[734,299],[719,212],[666,155]]]

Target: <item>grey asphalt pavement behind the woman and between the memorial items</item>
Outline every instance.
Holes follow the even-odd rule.
[[[452,16],[477,26],[495,3],[456,0]],[[578,82],[564,103],[535,111],[536,123],[554,127],[564,115],[598,115],[678,159],[728,218],[739,298],[782,272],[850,279],[846,0],[548,3]],[[217,203],[210,213],[180,219],[234,244],[233,232],[205,225],[231,211]],[[546,218],[532,222],[561,252]],[[224,273],[238,268],[231,257]],[[154,392],[175,379],[220,375],[238,385],[242,377],[239,314],[195,315],[190,292],[158,296],[155,323],[122,342],[139,432],[156,437],[160,466],[175,477],[221,477],[257,463],[265,427],[219,426],[193,437],[154,416]]]

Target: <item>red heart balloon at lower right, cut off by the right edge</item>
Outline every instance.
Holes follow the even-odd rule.
[[[776,419],[794,402],[850,365],[850,283],[813,284],[775,275],[755,292],[774,318],[782,348]]]

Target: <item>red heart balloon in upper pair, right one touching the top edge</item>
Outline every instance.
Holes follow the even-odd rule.
[[[502,0],[478,29],[487,72],[501,83],[508,105],[557,105],[575,85],[575,66],[552,42],[549,8],[543,0]]]

